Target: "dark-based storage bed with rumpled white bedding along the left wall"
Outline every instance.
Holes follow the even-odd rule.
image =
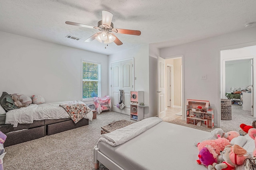
[[[81,101],[74,102],[84,104]],[[74,123],[68,112],[60,107],[68,103],[72,101],[31,104],[8,111],[5,124],[0,126],[0,130],[7,135],[4,147],[88,125],[88,120],[93,117],[91,109],[85,105],[84,118]]]

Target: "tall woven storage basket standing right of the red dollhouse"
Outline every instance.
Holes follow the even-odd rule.
[[[221,99],[221,120],[231,120],[232,110],[231,110],[231,100]]]

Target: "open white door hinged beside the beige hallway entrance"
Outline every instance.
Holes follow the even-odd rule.
[[[165,60],[161,57],[158,57],[158,117],[165,117],[165,88],[164,88],[164,79],[165,79]]]

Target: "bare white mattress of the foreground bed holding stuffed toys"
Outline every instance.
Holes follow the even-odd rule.
[[[160,122],[122,145],[101,141],[98,148],[125,170],[206,170],[196,163],[199,151],[194,142],[207,137],[211,134],[206,131]]]

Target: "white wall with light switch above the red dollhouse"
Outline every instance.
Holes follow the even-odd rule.
[[[160,49],[160,57],[184,56],[184,101],[209,100],[215,109],[214,124],[219,125],[220,49],[251,42],[256,43],[256,27]],[[200,76],[204,74],[207,79],[201,80]]]

